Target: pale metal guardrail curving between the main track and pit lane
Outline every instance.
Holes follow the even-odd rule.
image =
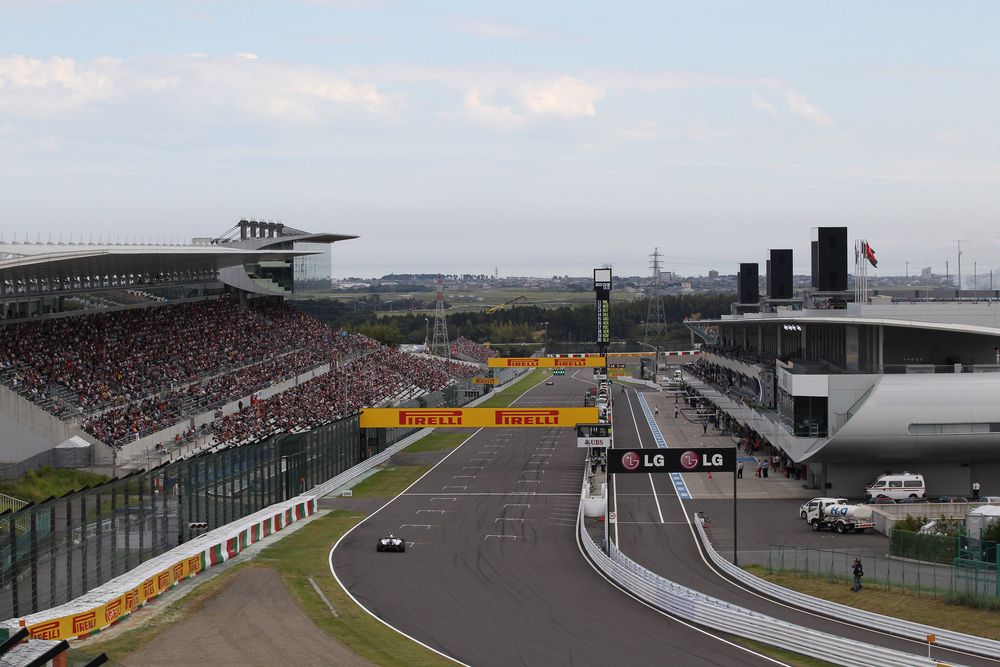
[[[647,570],[613,544],[611,556],[605,555],[590,537],[582,519],[579,527],[580,542],[587,556],[605,575],[636,597],[677,618],[846,667],[940,664],[925,656],[847,641],[691,590]]]

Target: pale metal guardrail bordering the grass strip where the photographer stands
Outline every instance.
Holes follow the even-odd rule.
[[[829,600],[823,600],[813,597],[812,595],[806,595],[805,593],[799,593],[798,591],[793,591],[761,579],[760,577],[750,574],[746,570],[733,565],[715,550],[715,547],[712,546],[712,543],[708,539],[708,534],[705,532],[705,527],[702,525],[700,517],[695,517],[695,527],[698,530],[698,535],[701,538],[702,544],[705,546],[705,551],[708,553],[709,558],[712,559],[712,562],[716,565],[716,567],[733,579],[739,581],[741,584],[748,586],[759,593],[763,593],[768,597],[780,600],[781,602],[789,604],[793,607],[809,609],[810,611],[824,616],[838,618],[854,625],[871,628],[873,630],[878,630],[880,632],[920,642],[926,641],[927,635],[935,635],[937,637],[937,645],[942,648],[965,651],[969,653],[978,653],[987,657],[996,657],[1000,655],[1000,641],[986,639],[985,637],[976,637],[975,635],[967,635],[962,632],[955,632],[954,630],[944,630],[942,628],[924,625],[923,623],[915,623],[913,621],[906,621],[892,616],[884,616],[882,614],[848,607],[847,605],[830,602]],[[829,660],[829,656],[826,656],[825,659]]]

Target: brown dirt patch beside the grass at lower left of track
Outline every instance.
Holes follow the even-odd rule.
[[[125,665],[368,667],[309,620],[281,575],[248,567],[196,613],[128,656]]]

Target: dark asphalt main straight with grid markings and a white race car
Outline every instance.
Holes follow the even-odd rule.
[[[577,406],[582,388],[556,378],[516,405]],[[331,566],[376,616],[471,665],[780,664],[598,575],[577,545],[583,464],[572,430],[470,432],[346,535]],[[388,533],[405,537],[405,554],[376,553]]]

